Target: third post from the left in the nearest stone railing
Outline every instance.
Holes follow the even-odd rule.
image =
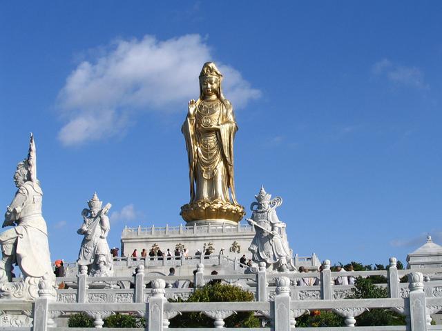
[[[275,331],[290,330],[290,279],[276,279],[276,296],[273,303],[273,323]]]

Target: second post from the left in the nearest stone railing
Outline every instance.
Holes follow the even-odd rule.
[[[149,298],[148,331],[162,331],[164,319],[164,302],[166,282],[163,279],[152,281],[152,297]]]

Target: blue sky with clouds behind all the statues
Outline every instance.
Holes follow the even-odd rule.
[[[204,61],[240,130],[236,188],[265,185],[294,252],[402,261],[442,244],[442,3],[75,1],[0,5],[0,201],[35,133],[52,260],[74,261],[81,210],[184,223],[180,127]],[[250,213],[249,213],[250,214]]]

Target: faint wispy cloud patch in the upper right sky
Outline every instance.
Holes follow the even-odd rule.
[[[416,67],[399,66],[388,59],[374,63],[372,73],[387,78],[396,84],[418,89],[428,88],[423,72]]]

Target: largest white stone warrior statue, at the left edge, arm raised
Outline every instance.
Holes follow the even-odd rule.
[[[37,180],[37,154],[34,136],[30,135],[28,157],[17,165],[14,174],[18,190],[5,214],[3,228],[14,226],[0,234],[0,297],[5,299],[35,299],[39,281],[46,275],[55,295],[55,274],[50,260],[48,231],[41,216],[43,191]],[[23,280],[12,282],[13,265],[19,266]]]

